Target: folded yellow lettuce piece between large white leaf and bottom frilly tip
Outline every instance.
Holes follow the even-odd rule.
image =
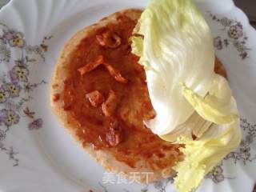
[[[175,142],[180,135],[191,138],[191,134],[194,134],[197,138],[201,138],[212,123],[222,125],[238,118],[238,110],[230,86],[226,78],[218,74],[214,74],[210,90],[205,97],[195,93],[184,83],[182,83],[182,94],[195,112],[170,134],[160,135],[168,142]]]

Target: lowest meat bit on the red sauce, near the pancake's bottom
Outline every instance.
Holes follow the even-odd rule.
[[[124,133],[118,121],[114,120],[114,122],[110,122],[110,130],[106,133],[106,142],[108,142],[110,146],[117,146],[123,140]]]

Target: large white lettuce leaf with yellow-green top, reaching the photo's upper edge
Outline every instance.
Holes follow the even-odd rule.
[[[210,28],[190,0],[152,0],[134,34],[139,35],[132,38],[132,52],[145,67],[150,99],[157,112],[146,125],[154,134],[169,134],[194,114],[179,82],[202,97],[209,90],[214,76]]]

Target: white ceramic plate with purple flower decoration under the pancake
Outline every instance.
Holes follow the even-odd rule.
[[[146,0],[14,0],[0,11],[0,191],[174,191],[172,179],[117,183],[66,134],[49,106],[50,78],[78,29]],[[256,180],[256,31],[231,0],[196,1],[241,112],[243,140],[198,191],[251,192]],[[126,181],[122,181],[126,182]]]

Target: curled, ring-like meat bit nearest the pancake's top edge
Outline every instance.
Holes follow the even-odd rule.
[[[100,46],[108,47],[111,49],[117,48],[121,45],[122,39],[111,31],[96,35],[97,42]]]

